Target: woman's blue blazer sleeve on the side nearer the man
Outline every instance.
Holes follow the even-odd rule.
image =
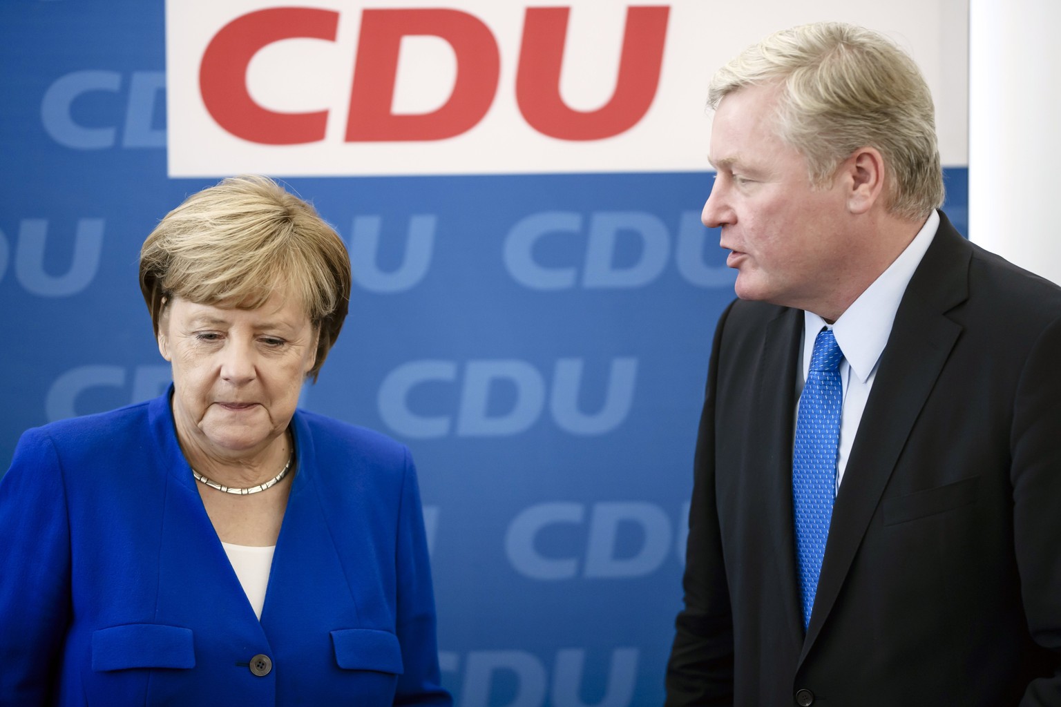
[[[395,705],[453,704],[441,688],[438,641],[435,633],[435,598],[431,582],[428,541],[423,528],[416,467],[406,449],[398,512],[398,617],[404,672],[398,681]]]

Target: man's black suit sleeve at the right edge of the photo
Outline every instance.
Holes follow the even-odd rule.
[[[1054,652],[1022,707],[1061,707],[1061,320],[1040,335],[1021,373],[1011,437],[1013,544],[1028,631]]]

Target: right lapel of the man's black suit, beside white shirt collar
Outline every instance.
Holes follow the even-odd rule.
[[[945,316],[968,297],[971,250],[940,214],[903,295],[840,484],[800,662],[840,591],[914,424],[961,333]]]

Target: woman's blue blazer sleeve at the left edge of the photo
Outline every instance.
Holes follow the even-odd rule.
[[[50,438],[29,430],[0,479],[0,705],[44,705],[70,614],[70,529]]]

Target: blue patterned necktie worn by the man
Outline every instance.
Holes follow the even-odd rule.
[[[811,623],[829,520],[836,493],[836,455],[840,442],[840,361],[843,352],[833,332],[814,340],[811,371],[799,399],[793,450],[793,505],[796,514],[796,560],[799,563],[803,630]]]

